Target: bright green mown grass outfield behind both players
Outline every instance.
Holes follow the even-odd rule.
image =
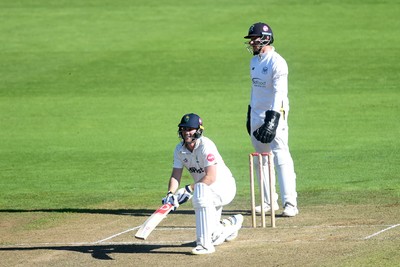
[[[289,64],[300,208],[397,206],[398,14],[397,0],[3,0],[0,209],[157,207],[188,112],[247,203],[257,21]]]

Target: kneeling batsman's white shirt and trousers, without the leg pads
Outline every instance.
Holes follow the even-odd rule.
[[[236,194],[236,183],[231,171],[225,165],[224,160],[218,152],[214,142],[202,136],[197,139],[193,152],[190,152],[182,143],[179,143],[174,151],[174,168],[186,168],[194,182],[198,182],[205,175],[205,168],[211,165],[217,166],[216,181],[210,188],[222,197],[226,202],[230,202]]]

